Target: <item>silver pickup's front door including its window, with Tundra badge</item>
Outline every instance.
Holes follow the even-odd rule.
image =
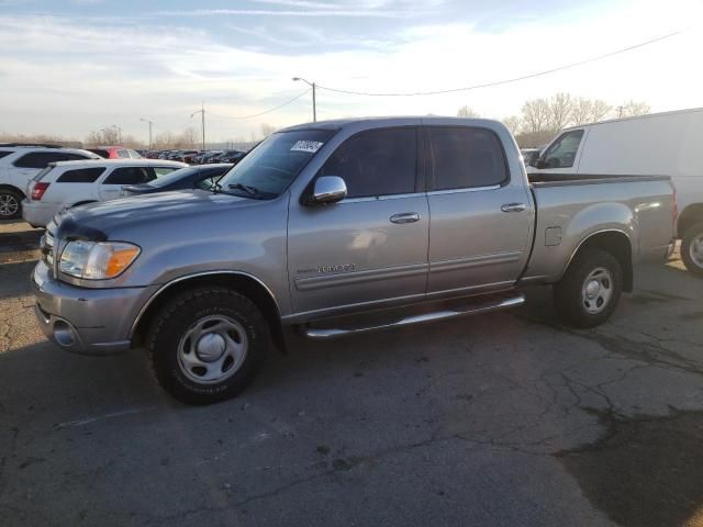
[[[317,173],[343,178],[347,198],[317,206],[291,198],[288,261],[297,314],[424,296],[429,214],[419,187],[417,134],[408,126],[353,135]]]

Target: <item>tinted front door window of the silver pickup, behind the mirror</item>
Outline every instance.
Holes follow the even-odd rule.
[[[338,176],[347,198],[415,192],[417,172],[416,128],[380,128],[360,132],[345,141],[320,170]]]

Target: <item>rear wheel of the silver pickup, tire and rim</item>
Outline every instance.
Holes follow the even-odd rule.
[[[577,327],[595,327],[615,311],[623,291],[623,270],[601,249],[579,253],[554,287],[559,316]]]

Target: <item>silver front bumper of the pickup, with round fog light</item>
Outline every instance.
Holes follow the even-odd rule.
[[[150,288],[85,289],[55,280],[44,261],[32,273],[42,333],[67,351],[112,355],[130,348],[132,324]]]

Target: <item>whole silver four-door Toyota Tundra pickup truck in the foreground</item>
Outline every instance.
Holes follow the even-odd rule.
[[[210,191],[115,200],[52,222],[32,281],[44,334],[104,355],[145,347],[176,399],[254,378],[283,326],[311,338],[516,306],[605,322],[633,262],[671,250],[666,177],[528,182],[502,124],[404,117],[275,133]],[[553,178],[554,179],[554,178]]]

